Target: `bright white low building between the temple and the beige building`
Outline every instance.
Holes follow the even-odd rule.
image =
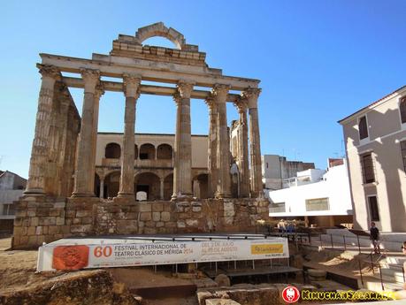
[[[287,187],[280,190],[265,190],[271,202],[270,217],[304,219],[308,225],[318,226],[352,223],[349,174],[344,161],[338,165],[330,162],[327,171],[297,172],[284,185]]]

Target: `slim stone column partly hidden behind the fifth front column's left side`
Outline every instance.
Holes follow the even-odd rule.
[[[217,182],[218,182],[218,168],[217,168],[218,107],[217,103],[214,102],[214,98],[212,95],[207,97],[205,103],[209,106],[208,197],[213,198],[214,193],[217,190]]]

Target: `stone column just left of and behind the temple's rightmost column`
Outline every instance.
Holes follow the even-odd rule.
[[[237,162],[240,169],[240,196],[249,197],[249,149],[248,149],[248,121],[247,103],[240,99],[235,103],[239,118],[238,128],[238,156]]]

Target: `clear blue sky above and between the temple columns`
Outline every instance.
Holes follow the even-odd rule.
[[[41,77],[38,54],[108,54],[119,34],[163,21],[226,75],[262,80],[263,154],[326,167],[337,120],[406,84],[406,1],[4,1],[0,10],[0,169],[27,177]],[[163,39],[148,44],[171,46]],[[71,90],[81,110],[82,92]],[[192,133],[208,112],[192,101]],[[237,118],[233,106],[228,119]],[[99,131],[122,132],[124,95],[101,100]],[[173,133],[169,97],[142,95],[136,131]]]

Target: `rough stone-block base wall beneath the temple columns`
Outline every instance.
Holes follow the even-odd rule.
[[[12,247],[90,235],[254,233],[257,219],[268,217],[268,204],[249,198],[130,202],[26,196],[16,205]]]

